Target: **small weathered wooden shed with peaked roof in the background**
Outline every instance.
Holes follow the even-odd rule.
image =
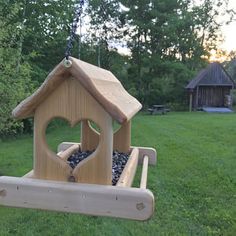
[[[189,110],[224,107],[225,99],[233,88],[234,82],[221,64],[211,63],[186,86],[189,93]]]

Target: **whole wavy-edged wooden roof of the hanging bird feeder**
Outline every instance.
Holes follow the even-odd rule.
[[[70,57],[72,66],[66,68],[63,61],[48,75],[36,92],[23,100],[12,112],[17,119],[34,115],[35,109],[64,80],[72,76],[119,123],[130,120],[142,105],[132,97],[120,81],[110,72],[84,61]]]

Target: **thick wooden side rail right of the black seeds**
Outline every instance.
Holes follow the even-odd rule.
[[[138,148],[134,148],[125,165],[125,168],[116,184],[119,187],[131,187],[138,166]]]

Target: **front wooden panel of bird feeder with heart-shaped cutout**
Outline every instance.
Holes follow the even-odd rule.
[[[55,117],[64,118],[72,127],[81,120],[93,120],[102,130],[96,151],[74,170],[49,150],[46,144],[47,124]],[[71,77],[61,83],[47,100],[37,107],[34,121],[36,178],[68,181],[74,177],[76,181],[86,183],[111,184],[112,118],[78,80]]]

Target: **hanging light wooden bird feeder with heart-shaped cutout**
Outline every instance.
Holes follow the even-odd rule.
[[[131,146],[131,118],[141,104],[109,71],[70,57],[61,62],[41,87],[14,110],[17,119],[34,117],[34,166],[25,176],[0,177],[0,204],[83,214],[146,220],[154,197],[146,189],[148,165],[156,164],[152,148]],[[81,122],[78,143],[63,142],[58,153],[46,142],[46,128],[54,118],[71,126]],[[113,133],[113,120],[121,128]],[[95,122],[100,133],[89,121]],[[68,157],[78,149],[95,150],[74,169]],[[113,150],[130,153],[112,186]],[[140,188],[132,187],[137,165],[142,164]]]

